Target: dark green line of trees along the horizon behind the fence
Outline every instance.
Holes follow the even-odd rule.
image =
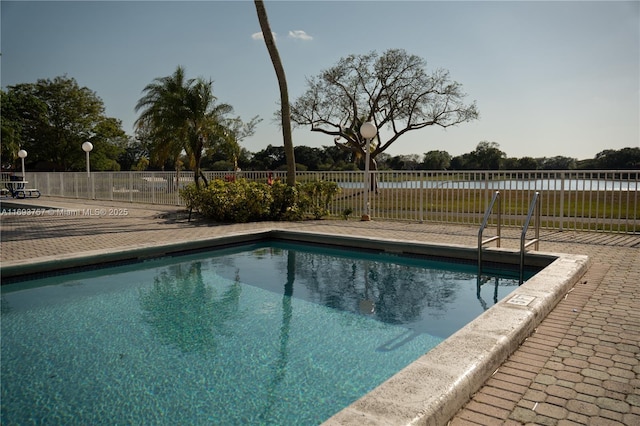
[[[342,69],[342,74],[337,70],[333,72],[344,75],[346,69]],[[332,78],[331,75],[323,74],[327,79]],[[326,87],[323,90],[331,92]],[[182,67],[177,67],[170,76],[154,79],[143,89],[136,105],[140,116],[134,136],[124,132],[120,120],[106,116],[103,102],[95,92],[80,87],[75,79],[67,76],[9,86],[0,95],[2,170],[19,167],[17,152],[20,149],[28,151],[25,159],[28,170],[83,170],[85,157],[80,146],[86,141],[94,146],[90,158],[91,168],[96,171],[188,169],[196,171],[197,177],[199,170],[287,169],[284,146],[269,144],[258,152],[241,146],[246,137],[254,134],[261,121],[259,117],[244,121],[234,116],[233,107],[218,102],[213,95],[211,80],[188,79]],[[305,120],[304,115],[299,116],[305,104],[316,105],[310,93],[305,93],[294,104],[292,116],[299,125]],[[469,108],[469,114],[475,115],[475,107]],[[318,113],[310,113],[309,117],[316,117]],[[443,120],[442,114],[438,117]],[[450,118],[451,123],[440,124],[446,126],[471,118],[456,116]],[[363,169],[364,141],[358,134],[358,125],[362,122],[356,119],[348,126],[336,123],[338,133],[335,135],[327,129],[318,130],[318,123],[307,123],[312,131],[333,136],[334,144],[321,148],[295,146],[296,169]],[[415,126],[415,129],[419,127]],[[498,143],[489,141],[481,141],[474,150],[457,156],[443,150],[391,156],[382,149],[388,146],[378,141],[377,136],[372,141],[371,154],[375,153],[373,161],[378,170],[640,169],[638,147],[607,149],[594,158],[579,160],[564,156],[509,157]]]

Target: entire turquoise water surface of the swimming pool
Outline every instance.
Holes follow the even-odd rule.
[[[517,286],[476,278],[274,242],[5,285],[2,424],[321,423]]]

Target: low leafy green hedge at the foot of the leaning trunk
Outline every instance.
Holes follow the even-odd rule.
[[[339,188],[335,182],[306,182],[295,187],[281,182],[215,179],[198,190],[191,184],[180,190],[187,208],[218,222],[315,219],[329,214]]]

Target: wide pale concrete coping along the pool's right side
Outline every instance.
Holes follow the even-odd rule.
[[[587,256],[554,255],[505,300],[324,425],[447,424],[588,269]]]

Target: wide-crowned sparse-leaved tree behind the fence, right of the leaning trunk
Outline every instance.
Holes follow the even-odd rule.
[[[405,133],[427,126],[449,127],[478,118],[475,102],[465,104],[462,85],[446,70],[426,70],[426,61],[402,49],[349,55],[307,81],[292,105],[291,120],[332,136],[339,148],[364,157],[360,126],[372,121],[375,158]]]

